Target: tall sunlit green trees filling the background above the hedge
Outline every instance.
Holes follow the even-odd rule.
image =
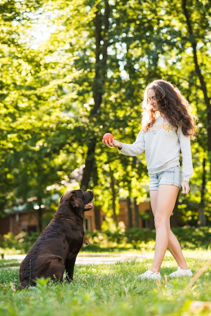
[[[144,155],[121,155],[101,139],[112,132],[133,142],[143,90],[163,78],[198,117],[191,190],[178,195],[172,224],[210,235],[210,13],[208,0],[1,2],[2,232],[25,213],[41,232],[75,188],[94,191],[94,230],[123,231],[121,201],[126,230],[143,227],[140,219],[153,229],[139,210],[149,202]]]

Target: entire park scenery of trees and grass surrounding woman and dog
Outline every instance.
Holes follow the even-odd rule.
[[[1,316],[210,316],[210,16],[209,0],[0,2],[0,235],[8,218],[25,230],[0,238]],[[191,190],[171,219],[190,280],[167,277],[176,269],[169,251],[161,281],[137,278],[154,251],[150,211],[140,210],[149,203],[144,155],[101,142],[105,132],[135,140],[143,90],[159,78],[177,84],[199,119]],[[95,194],[73,282],[17,291],[17,255],[72,188]],[[32,214],[36,232],[20,223]]]

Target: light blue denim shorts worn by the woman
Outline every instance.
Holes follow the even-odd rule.
[[[160,184],[176,185],[181,188],[181,167],[176,166],[156,174],[149,174],[149,190],[157,190]]]

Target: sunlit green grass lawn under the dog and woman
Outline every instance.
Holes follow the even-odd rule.
[[[184,250],[194,273],[192,279],[138,280],[136,276],[147,270],[152,260],[136,259],[116,264],[76,265],[70,284],[38,280],[37,287],[16,291],[18,269],[1,269],[0,315],[210,316],[209,307],[192,307],[193,301],[211,300],[211,266],[197,276],[210,260],[210,254],[211,250]],[[176,269],[174,259],[167,253],[161,274],[168,275]]]

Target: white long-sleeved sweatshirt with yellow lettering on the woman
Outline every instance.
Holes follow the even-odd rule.
[[[156,174],[180,165],[182,153],[182,174],[189,181],[193,173],[190,137],[175,128],[162,116],[157,117],[145,133],[141,130],[134,143],[122,143],[120,152],[128,156],[137,156],[145,151],[145,159],[149,174]]]

